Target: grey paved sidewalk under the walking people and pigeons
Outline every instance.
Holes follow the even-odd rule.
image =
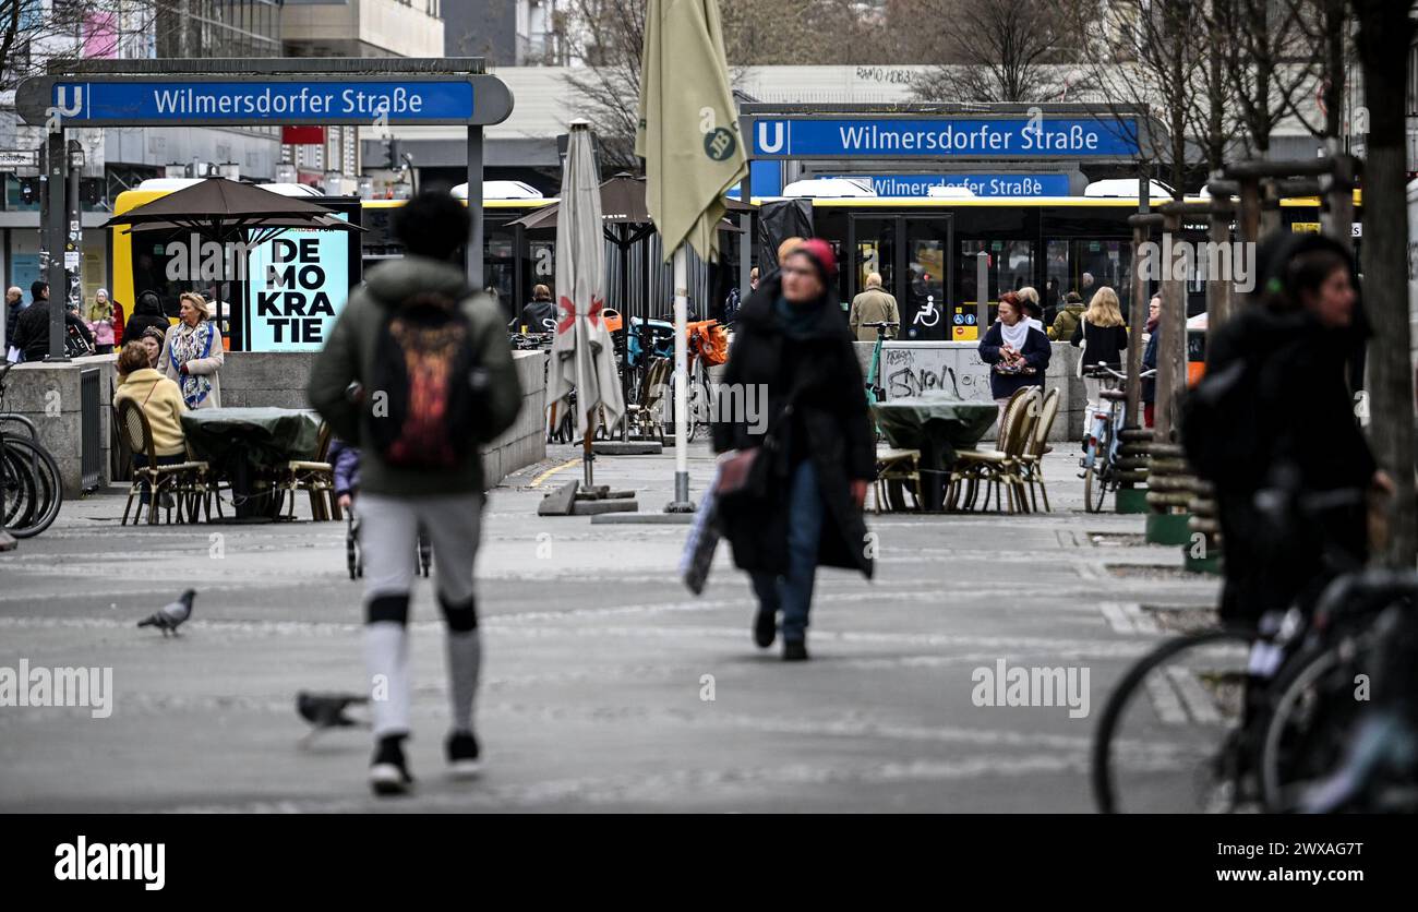
[[[1054,513],[869,516],[878,579],[822,572],[814,658],[784,664],[750,641],[727,549],[695,599],[675,574],[685,526],[536,516],[577,455],[557,447],[491,494],[481,780],[442,776],[428,583],[413,624],[418,790],[374,801],[367,732],[301,747],[294,711],[302,688],[363,689],[343,523],[121,528],[109,494],[0,555],[0,667],[112,667],[116,691],[108,719],[0,708],[0,810],[1085,811],[1092,729],[1159,635],[1151,608],[1215,600],[1214,580],[1177,570],[1178,549],[1139,543],[1140,516],[1083,513],[1076,457],[1055,452]],[[691,471],[698,498],[702,445]],[[669,451],[597,461],[644,512],[672,477]],[[135,627],[189,586],[180,638]],[[973,705],[971,672],[1001,660],[1089,668],[1090,715]]]

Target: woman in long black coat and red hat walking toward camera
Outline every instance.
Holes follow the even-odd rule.
[[[749,484],[718,499],[719,529],[753,579],[754,643],[773,645],[781,611],[788,661],[807,658],[817,567],[872,574],[862,501],[876,445],[835,274],[831,245],[813,238],[759,284],[735,322],[713,427],[716,452],[760,448]],[[760,390],[761,416],[730,411],[761,401]]]

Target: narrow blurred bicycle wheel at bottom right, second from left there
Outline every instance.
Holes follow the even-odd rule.
[[[1358,655],[1351,644],[1312,650],[1299,655],[1276,684],[1280,696],[1261,752],[1268,811],[1296,810],[1306,786],[1343,762],[1366,705],[1354,698]]]

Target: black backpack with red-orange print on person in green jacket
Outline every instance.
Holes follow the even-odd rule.
[[[369,440],[406,469],[452,469],[479,443],[482,377],[459,301],[421,292],[389,309],[366,387]]]

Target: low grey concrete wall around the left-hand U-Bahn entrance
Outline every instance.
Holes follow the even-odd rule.
[[[516,423],[489,444],[484,467],[489,485],[510,472],[546,457],[543,403],[546,377],[542,352],[513,352],[523,406]],[[96,367],[99,401],[111,404],[116,386],[113,355],[81,357],[67,365],[17,365],[6,383],[6,411],[17,411],[38,426],[40,443],[54,454],[64,477],[64,495],[78,496],[82,482],[79,373]],[[221,404],[228,407],[269,406],[308,408],[305,382],[315,362],[313,352],[259,353],[230,352],[221,369]],[[112,408],[98,410],[102,451],[99,484],[109,484],[109,418]]]

